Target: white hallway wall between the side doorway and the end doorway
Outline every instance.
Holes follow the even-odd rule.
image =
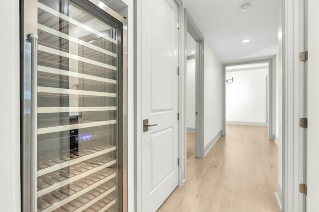
[[[204,35],[205,36],[205,35]],[[204,145],[220,133],[221,126],[221,67],[214,50],[204,44]]]

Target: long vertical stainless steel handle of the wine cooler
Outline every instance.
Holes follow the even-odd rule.
[[[37,211],[37,86],[38,35],[27,35],[31,43],[31,211]]]

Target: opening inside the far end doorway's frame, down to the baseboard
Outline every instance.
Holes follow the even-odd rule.
[[[268,127],[268,66],[226,67],[226,124]]]

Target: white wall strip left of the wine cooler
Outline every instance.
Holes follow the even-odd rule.
[[[20,211],[19,1],[0,1],[0,206]]]

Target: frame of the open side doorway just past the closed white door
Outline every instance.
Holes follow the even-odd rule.
[[[187,160],[187,124],[186,124],[186,86],[187,86],[187,32],[196,42],[196,112],[195,117],[195,156],[204,157],[204,36],[197,27],[195,21],[190,16],[186,8],[183,9],[183,17],[180,26],[181,41],[180,66],[179,66],[179,185],[186,179],[186,160]]]

